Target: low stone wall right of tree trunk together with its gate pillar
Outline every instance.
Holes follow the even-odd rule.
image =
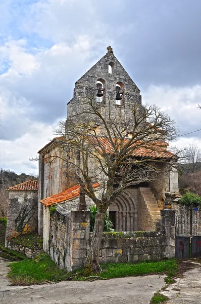
[[[100,263],[162,260],[175,257],[175,215],[161,210],[160,232],[105,232],[99,251]]]

